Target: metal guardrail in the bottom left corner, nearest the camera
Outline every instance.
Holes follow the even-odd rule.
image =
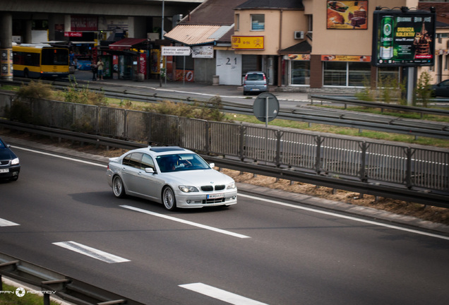
[[[52,294],[79,305],[144,305],[138,301],[4,253],[0,253],[0,290],[3,290],[2,275],[25,282],[28,285],[40,287],[44,305],[50,305]]]

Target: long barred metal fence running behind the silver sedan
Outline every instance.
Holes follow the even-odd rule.
[[[447,150],[49,100],[33,100],[27,107],[31,109],[34,124],[42,126],[144,143],[179,145],[206,155],[234,157],[369,183],[449,191]]]

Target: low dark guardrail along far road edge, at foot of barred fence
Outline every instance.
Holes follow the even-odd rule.
[[[6,120],[0,120],[0,126],[29,133],[67,138],[70,140],[77,140],[79,142],[101,144],[117,148],[133,149],[147,146],[144,143],[137,143],[114,138],[105,138],[95,135],[86,135],[84,133],[75,133],[72,131],[63,131],[54,128],[31,126],[28,124],[20,124],[17,122],[10,122]],[[226,140],[226,135],[224,135],[224,138],[220,139],[221,142],[222,140]],[[219,150],[217,147],[215,147],[215,149]],[[449,193],[447,191],[439,193],[423,189],[409,189],[405,184],[386,182],[381,184],[380,181],[360,181],[359,179],[357,179],[357,177],[351,177],[350,173],[349,175],[347,174],[335,177],[335,175],[329,175],[325,172],[318,172],[317,174],[313,170],[299,169],[289,166],[277,166],[275,163],[266,162],[266,164],[262,164],[261,162],[250,162],[249,160],[246,160],[246,162],[244,162],[241,160],[241,158],[235,156],[232,157],[232,155],[229,155],[227,157],[217,156],[215,153],[213,153],[213,150],[213,148],[210,150],[211,153],[204,153],[204,150],[199,151],[199,153],[208,162],[214,162],[217,167],[235,169],[243,172],[250,172],[253,174],[263,174],[268,177],[277,177],[280,179],[288,179],[291,181],[300,181],[309,184],[316,184],[319,186],[327,186],[333,189],[355,191],[361,194],[381,196],[385,198],[395,198],[402,201],[449,208]],[[233,150],[233,148],[231,148],[231,150]],[[256,153],[264,154],[265,152],[261,150]],[[238,151],[236,152],[236,155],[238,155]],[[323,157],[325,157],[325,155]],[[373,160],[373,162],[376,163],[377,161]],[[333,164],[333,166],[334,165],[337,164]],[[310,160],[310,166],[316,166],[315,160],[313,158]],[[375,170],[375,167],[372,167],[371,169],[367,168],[367,170]],[[359,176],[359,174],[365,175],[364,172],[357,172],[356,174],[357,176]],[[385,177],[385,179],[388,179],[388,177]]]

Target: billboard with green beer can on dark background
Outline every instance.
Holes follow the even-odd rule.
[[[435,13],[374,11],[373,66],[433,66]]]

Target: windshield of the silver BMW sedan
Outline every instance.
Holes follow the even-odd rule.
[[[192,169],[210,169],[199,155],[174,154],[156,157],[161,172],[179,172]]]

